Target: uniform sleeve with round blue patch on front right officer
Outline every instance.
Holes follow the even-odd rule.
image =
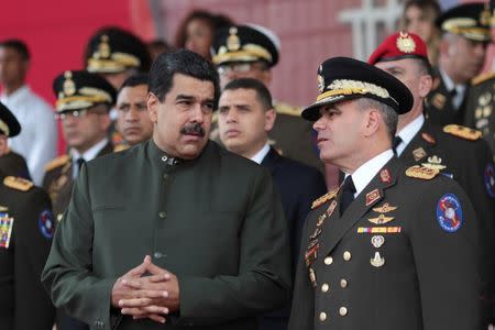
[[[482,329],[477,220],[459,185],[444,177],[437,179],[416,194],[421,208],[410,232],[422,329]],[[440,218],[446,215],[460,220],[460,227]]]

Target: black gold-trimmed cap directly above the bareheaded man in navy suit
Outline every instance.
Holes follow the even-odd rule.
[[[235,25],[215,33],[213,64],[264,61],[268,67],[278,63],[279,42],[275,33],[257,25]]]

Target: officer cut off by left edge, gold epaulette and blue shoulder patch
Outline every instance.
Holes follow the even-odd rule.
[[[0,157],[15,117],[0,105]],[[0,169],[0,329],[50,330],[55,308],[40,283],[54,233],[50,198],[33,183]]]

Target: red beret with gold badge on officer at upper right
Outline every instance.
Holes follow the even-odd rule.
[[[428,61],[427,45],[416,34],[396,32],[389,35],[367,59],[375,65],[377,62],[395,61],[402,58],[422,58]]]

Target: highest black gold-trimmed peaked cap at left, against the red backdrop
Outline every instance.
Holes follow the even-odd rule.
[[[86,69],[90,73],[117,74],[131,68],[148,72],[151,62],[143,41],[117,26],[97,31],[86,50]]]

